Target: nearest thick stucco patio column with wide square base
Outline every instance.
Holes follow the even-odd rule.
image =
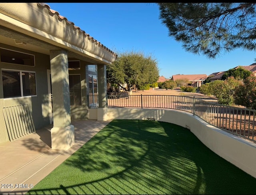
[[[71,125],[66,50],[50,51],[53,128],[52,149],[69,149],[75,143],[74,126]]]

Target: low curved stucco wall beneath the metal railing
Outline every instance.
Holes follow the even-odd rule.
[[[97,119],[98,109],[89,109],[88,119]],[[108,108],[108,120],[155,118],[190,129],[204,145],[256,178],[256,143],[214,127],[191,113],[166,109]]]

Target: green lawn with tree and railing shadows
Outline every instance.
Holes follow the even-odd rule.
[[[256,178],[184,127],[113,120],[27,194],[256,194]]]

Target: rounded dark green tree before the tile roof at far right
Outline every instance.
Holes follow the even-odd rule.
[[[244,80],[251,74],[251,71],[245,70],[244,68],[239,66],[238,68],[231,68],[228,71],[224,72],[221,80],[226,80],[228,77],[234,77],[234,79]]]

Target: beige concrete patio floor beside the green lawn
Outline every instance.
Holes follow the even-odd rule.
[[[0,144],[0,194],[25,194],[110,121],[72,120],[75,145],[51,149],[52,124],[13,142]]]

